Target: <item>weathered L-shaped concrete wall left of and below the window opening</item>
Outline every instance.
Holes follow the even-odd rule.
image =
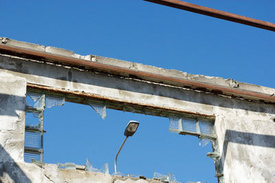
[[[0,182],[160,182],[25,163],[26,79],[0,72]]]

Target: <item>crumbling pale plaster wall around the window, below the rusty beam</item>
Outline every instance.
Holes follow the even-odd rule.
[[[225,182],[275,182],[274,105],[108,76],[14,56],[0,56],[0,74],[0,142],[1,157],[5,157],[0,159],[2,180],[17,182],[16,180],[23,178],[25,182],[78,182],[79,179],[87,182],[113,181],[110,175],[63,171],[58,170],[56,165],[47,165],[41,169],[35,164],[23,162],[27,82],[140,105],[214,115]],[[8,166],[13,168],[8,169]]]

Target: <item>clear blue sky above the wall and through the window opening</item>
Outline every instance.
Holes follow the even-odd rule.
[[[275,23],[275,1],[188,1]],[[275,88],[275,34],[148,3],[132,1],[2,1],[0,36]],[[129,120],[141,122],[118,158],[118,171],[181,182],[217,182],[210,145],[168,132],[168,119],[66,103],[45,111],[45,162],[109,163]]]

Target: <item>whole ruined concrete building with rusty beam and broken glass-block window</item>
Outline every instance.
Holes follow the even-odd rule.
[[[0,38],[0,182],[162,182],[43,163],[43,110],[65,101],[93,105],[102,118],[106,107],[169,118],[170,131],[212,142],[208,156],[219,182],[275,182],[274,94],[232,79]],[[25,121],[28,114],[37,121]]]

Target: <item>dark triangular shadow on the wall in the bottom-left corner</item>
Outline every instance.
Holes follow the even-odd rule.
[[[5,175],[7,174],[7,175]],[[27,175],[20,169],[16,162],[0,144],[0,183],[1,182],[31,183]]]

